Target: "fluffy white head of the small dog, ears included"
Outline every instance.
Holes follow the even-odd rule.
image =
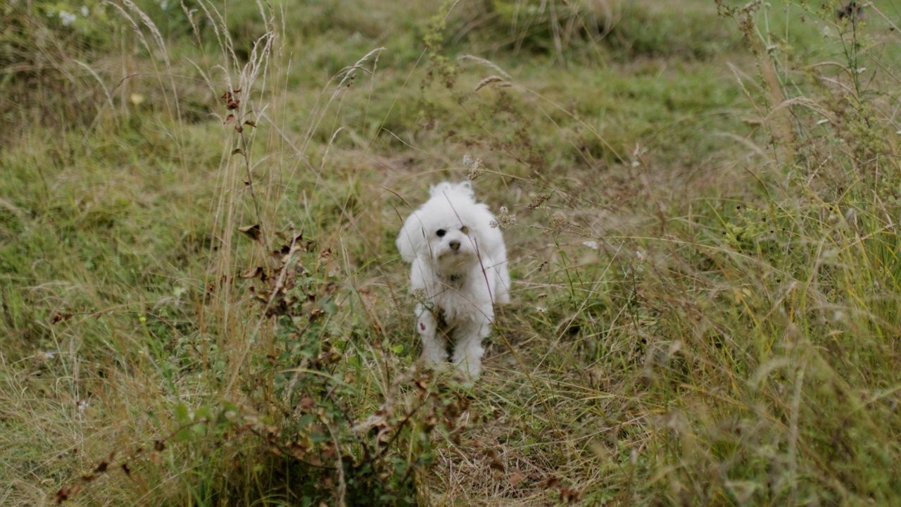
[[[495,217],[476,203],[469,181],[440,183],[431,196],[407,217],[397,249],[406,262],[420,258],[441,275],[465,272],[479,262],[480,249],[491,240],[484,232]]]

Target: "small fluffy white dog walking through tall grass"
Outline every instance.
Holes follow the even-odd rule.
[[[413,264],[410,290],[420,298],[415,314],[423,359],[446,361],[451,337],[453,363],[478,377],[494,303],[510,302],[504,236],[487,205],[476,203],[469,181],[440,183],[431,195],[397,237],[397,250]]]

